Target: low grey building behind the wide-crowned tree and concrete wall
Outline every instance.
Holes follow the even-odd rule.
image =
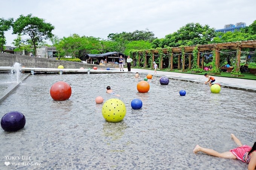
[[[18,54],[18,55],[23,55],[23,56],[31,56],[33,53],[33,47],[31,47],[31,51],[14,51],[15,48],[17,47],[11,47],[11,46],[5,46],[4,53],[11,53],[11,54]],[[41,58],[52,58],[52,57],[57,57],[55,56],[56,53],[56,48],[55,47],[48,47],[48,46],[40,46],[37,48],[37,56],[36,57],[41,57]]]

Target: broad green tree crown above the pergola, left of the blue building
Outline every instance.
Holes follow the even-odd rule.
[[[164,39],[154,40],[153,47],[180,47],[181,45],[209,44],[215,37],[215,29],[199,23],[187,23],[177,32],[168,34]]]

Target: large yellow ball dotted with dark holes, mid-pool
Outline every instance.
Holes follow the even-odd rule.
[[[108,122],[120,122],[126,114],[125,104],[119,99],[108,99],[102,106],[102,116]]]

